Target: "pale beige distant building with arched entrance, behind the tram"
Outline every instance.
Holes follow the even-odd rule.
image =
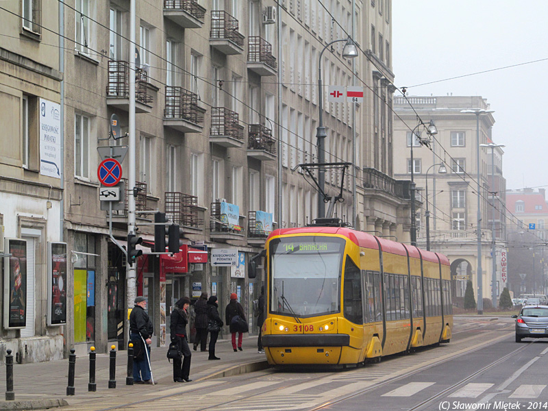
[[[463,297],[466,282],[477,290],[477,155],[479,154],[479,208],[482,213],[482,294],[491,297],[493,258],[493,222],[497,259],[497,295],[507,286],[505,240],[506,180],[502,174],[501,147],[494,149],[477,145],[477,119],[471,109],[488,110],[482,97],[436,96],[397,97],[395,100],[395,176],[409,178],[411,168],[416,184],[417,243],[426,248],[425,214],[428,206],[429,240],[432,251],[444,253],[451,261],[454,297]],[[415,112],[416,110],[416,112]],[[428,136],[419,125],[433,121],[438,133]],[[479,144],[493,143],[493,114],[479,116]],[[412,138],[419,133],[423,142]],[[411,145],[413,144],[413,162]],[[492,166],[494,159],[495,167]],[[440,173],[443,164],[447,172]],[[493,177],[494,173],[494,177]],[[428,179],[428,181],[427,181]],[[493,195],[495,209],[493,210]],[[494,212],[493,212],[494,211]],[[498,260],[498,262],[497,262]],[[477,295],[476,295],[477,298]]]

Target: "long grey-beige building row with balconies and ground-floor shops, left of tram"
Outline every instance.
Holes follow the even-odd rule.
[[[13,327],[13,301],[3,301],[1,332],[18,361],[60,358],[70,347],[123,347],[131,307],[118,245],[126,244],[131,195],[144,251],[137,291],[149,299],[154,343],[169,333],[173,303],[204,291],[217,295],[221,308],[236,292],[256,333],[250,302],[263,275],[249,279],[247,261],[271,229],[317,216],[317,190],[297,164],[318,160],[320,98],[326,162],[356,164],[334,216],[408,238],[408,184],[394,179],[392,165],[390,1],[138,2],[135,46],[129,0],[10,5],[1,28],[9,40],[0,50],[0,101],[8,108],[3,124],[16,138],[1,139],[0,225],[6,238],[26,242],[3,251],[11,254],[4,258],[4,277],[11,273],[5,288],[21,297],[14,298]],[[320,92],[319,55],[348,36],[358,58],[342,57],[344,41],[326,49]],[[97,168],[127,146],[131,75],[136,190],[127,181],[129,158],[120,157],[125,188],[109,215],[99,201]],[[332,85],[364,86],[364,100],[330,103]],[[116,140],[113,115],[121,126]],[[327,171],[328,195],[340,191],[341,175]],[[223,220],[227,205],[237,209],[236,223]],[[182,266],[149,254],[158,211],[182,229]],[[236,267],[212,264],[224,249],[237,251]],[[16,316],[23,301],[25,323]]]

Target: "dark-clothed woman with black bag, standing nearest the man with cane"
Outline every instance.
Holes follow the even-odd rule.
[[[173,359],[173,381],[174,382],[191,382],[190,379],[190,347],[186,334],[186,325],[188,324],[188,306],[190,306],[190,298],[182,297],[177,300],[175,307],[171,312],[171,324],[169,327],[171,333],[171,342],[179,346],[179,351],[183,358]]]

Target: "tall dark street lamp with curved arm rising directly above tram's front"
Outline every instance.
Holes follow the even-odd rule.
[[[316,141],[318,144],[318,164],[323,164],[325,162],[325,137],[327,137],[327,134],[325,133],[325,127],[323,127],[323,94],[322,94],[323,90],[321,85],[321,56],[323,55],[323,52],[325,51],[325,49],[327,49],[327,47],[340,41],[347,42],[343,49],[344,58],[358,57],[358,48],[356,47],[356,44],[354,44],[351,38],[333,40],[332,42],[327,43],[327,45],[323,47],[320,53],[319,62],[318,62],[319,125],[316,128]],[[325,171],[319,168],[318,172],[319,172],[318,186],[320,190],[320,193],[318,195],[318,217],[320,219],[323,219],[325,217],[325,201],[323,197],[325,192]],[[356,201],[356,199],[353,199],[353,201]]]

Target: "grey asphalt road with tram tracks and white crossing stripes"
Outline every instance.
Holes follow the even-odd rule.
[[[451,343],[360,368],[268,369],[75,410],[544,410],[545,351],[515,343],[510,316],[456,316]]]

